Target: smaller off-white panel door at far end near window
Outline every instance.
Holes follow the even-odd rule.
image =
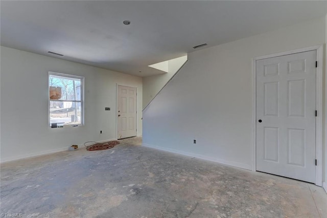
[[[136,136],[136,88],[118,85],[118,139]]]

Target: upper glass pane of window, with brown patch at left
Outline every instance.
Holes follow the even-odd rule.
[[[51,100],[81,100],[81,79],[50,75]]]

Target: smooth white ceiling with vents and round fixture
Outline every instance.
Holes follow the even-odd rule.
[[[150,64],[183,56],[202,43],[216,46],[324,16],[326,3],[1,1],[1,45],[149,76],[164,73]]]

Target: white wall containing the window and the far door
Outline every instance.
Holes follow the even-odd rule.
[[[49,71],[85,77],[84,126],[48,127]],[[86,141],[115,139],[116,83],[137,88],[137,111],[141,112],[141,77],[1,47],[1,162]],[[138,136],[142,135],[141,117],[138,113]]]

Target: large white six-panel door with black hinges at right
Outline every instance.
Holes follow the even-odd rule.
[[[316,51],[256,61],[256,170],[315,182]]]

